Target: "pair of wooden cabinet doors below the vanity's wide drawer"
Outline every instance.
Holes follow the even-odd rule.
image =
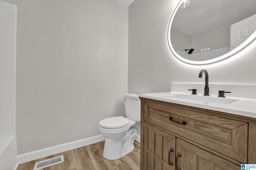
[[[240,166],[147,123],[143,147],[143,170],[240,170]]]

